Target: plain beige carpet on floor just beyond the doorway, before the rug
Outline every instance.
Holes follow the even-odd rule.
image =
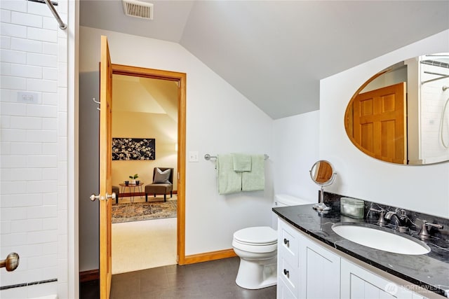
[[[176,223],[177,218],[113,223],[112,274],[176,264]]]

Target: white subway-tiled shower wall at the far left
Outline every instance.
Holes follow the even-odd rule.
[[[67,20],[67,1],[58,2]],[[0,298],[67,298],[67,31],[46,4],[0,8],[0,258],[20,256],[17,270],[0,270],[0,286],[53,281]]]

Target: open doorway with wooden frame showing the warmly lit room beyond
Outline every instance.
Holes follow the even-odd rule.
[[[112,274],[176,264],[184,256],[180,178],[185,165],[185,74],[114,64],[112,69],[112,138],[145,139],[152,151],[144,160],[131,156],[112,161],[112,185],[119,188],[112,207]],[[166,195],[145,194],[155,167],[173,172],[173,188]],[[135,174],[140,184],[123,186]],[[123,221],[114,221],[117,207]]]

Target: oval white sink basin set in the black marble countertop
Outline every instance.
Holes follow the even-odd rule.
[[[332,230],[349,241],[383,251],[419,255],[430,252],[429,246],[407,235],[396,235],[377,228],[361,225],[335,223]]]

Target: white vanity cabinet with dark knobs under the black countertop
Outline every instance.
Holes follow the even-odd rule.
[[[278,219],[278,299],[426,299],[349,262]]]

